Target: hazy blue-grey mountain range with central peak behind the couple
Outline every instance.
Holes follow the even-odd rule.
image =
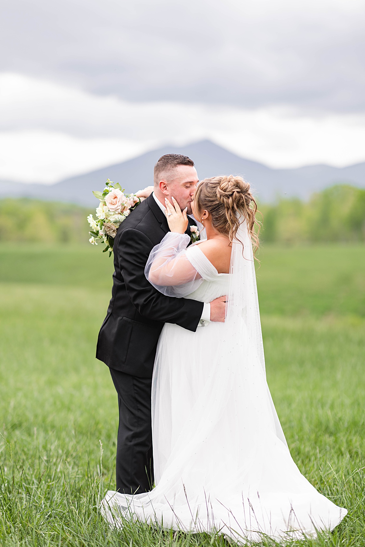
[[[273,201],[278,195],[309,197],[335,183],[349,183],[365,187],[365,162],[337,168],[329,165],[310,165],[297,169],[271,169],[256,161],[240,158],[211,141],[187,146],[165,146],[120,164],[68,178],[57,184],[24,184],[0,181],[0,197],[36,197],[43,200],[68,201],[94,206],[92,190],[101,190],[106,179],[119,182],[126,191],[135,192],[153,184],[153,166],[167,153],[186,154],[195,162],[200,179],[219,174],[240,174],[250,182],[261,201]]]

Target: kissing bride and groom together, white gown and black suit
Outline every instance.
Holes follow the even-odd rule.
[[[347,511],[300,474],[266,383],[256,202],[241,177],[198,182],[187,156],[162,156],[115,236],[97,358],[118,392],[117,492],[102,514],[237,543],[316,537]]]

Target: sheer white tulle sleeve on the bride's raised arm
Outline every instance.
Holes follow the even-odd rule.
[[[187,258],[189,242],[187,234],[167,232],[161,243],[155,245],[149,254],[144,275],[155,289],[166,296],[183,298],[203,281]]]

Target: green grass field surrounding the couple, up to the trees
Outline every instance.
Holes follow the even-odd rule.
[[[365,545],[365,247],[266,246],[260,259],[266,371],[291,453],[349,509],[306,544]],[[142,525],[117,532],[97,511],[114,488],[118,426],[94,358],[111,274],[100,248],[0,246],[1,545],[223,545]]]

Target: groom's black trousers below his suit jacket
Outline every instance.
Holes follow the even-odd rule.
[[[153,486],[152,379],[110,369],[118,393],[117,491],[148,492]]]

